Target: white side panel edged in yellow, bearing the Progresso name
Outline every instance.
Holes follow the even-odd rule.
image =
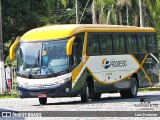
[[[90,56],[86,66],[102,83],[119,81],[139,69],[139,63],[132,55]]]

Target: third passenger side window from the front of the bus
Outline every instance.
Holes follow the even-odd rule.
[[[115,54],[125,54],[125,42],[123,34],[113,34]]]

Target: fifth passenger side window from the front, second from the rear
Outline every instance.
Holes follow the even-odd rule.
[[[146,47],[146,36],[145,34],[139,34],[138,37],[138,47],[139,47],[139,52],[140,53],[146,53],[147,52],[147,47]]]

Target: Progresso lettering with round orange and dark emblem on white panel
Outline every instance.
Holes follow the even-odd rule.
[[[126,67],[127,61],[126,60],[108,60],[104,58],[102,60],[102,67],[104,69],[108,69],[109,67]]]

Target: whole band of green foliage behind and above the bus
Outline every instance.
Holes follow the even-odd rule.
[[[88,1],[88,0],[87,0]],[[78,15],[87,3],[78,0]],[[97,23],[127,24],[139,26],[139,0],[95,0]],[[144,26],[156,28],[160,38],[160,1],[141,0]],[[92,2],[82,17],[82,24],[92,23]],[[119,4],[118,4],[119,3]],[[128,7],[126,7],[128,5]],[[128,9],[128,10],[127,10]],[[8,58],[10,44],[17,36],[22,36],[30,29],[51,24],[74,24],[76,22],[75,0],[2,0],[2,28],[4,41],[5,64]],[[100,21],[99,21],[100,20]],[[14,64],[16,64],[14,62]]]

